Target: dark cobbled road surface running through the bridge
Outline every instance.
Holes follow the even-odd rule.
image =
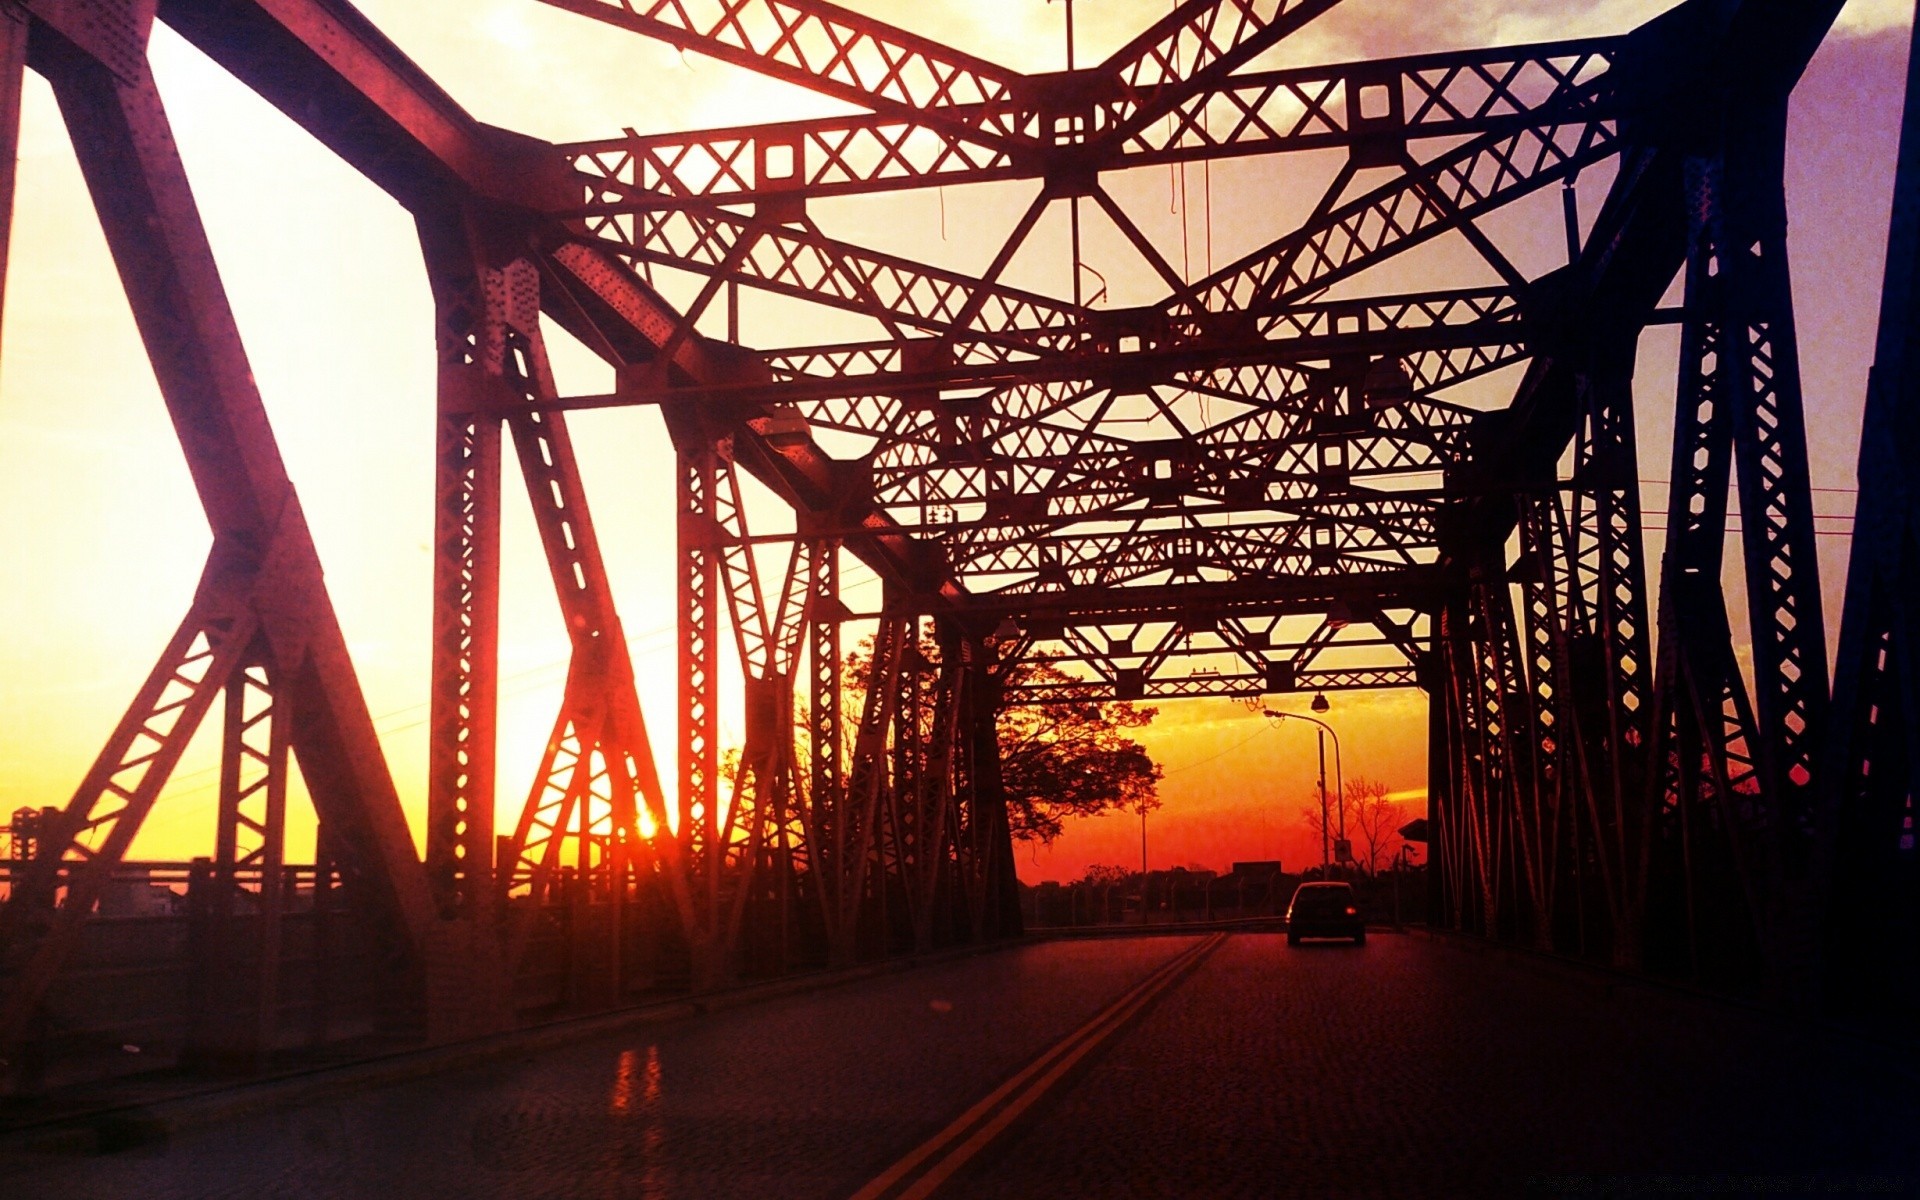
[[[1903,1194],[1834,1033],[1425,937],[1044,941],[538,1056],[0,1154],[0,1194]]]

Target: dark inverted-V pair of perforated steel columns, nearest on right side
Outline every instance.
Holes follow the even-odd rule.
[[[1690,945],[1724,954],[1724,925],[1745,924],[1766,983],[1795,1000],[1812,981],[1811,739],[1824,735],[1826,647],[1780,207],[1784,113],[1757,125],[1686,167],[1688,323],[1657,674],[1667,755],[1678,758],[1665,774],[1680,791],[1667,799],[1663,860],[1668,874],[1680,866],[1665,891],[1688,914]],[[1759,712],[1734,660],[1718,578],[1736,451]],[[1703,810],[1701,789],[1715,812]],[[1692,927],[1701,902],[1715,912],[1709,939]],[[1751,968],[1728,956],[1720,972],[1738,983]]]

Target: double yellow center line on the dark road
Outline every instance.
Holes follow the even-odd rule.
[[[960,1114],[947,1129],[920,1142],[906,1158],[881,1171],[872,1183],[852,1194],[852,1200],[924,1200],[964,1167],[975,1154],[1000,1137],[1020,1114],[1033,1108],[1068,1071],[1094,1052],[1121,1025],[1135,1018],[1156,996],[1187,977],[1200,960],[1212,954],[1225,933],[1181,950],[1123,996],[1102,1008],[1091,1021],[1054,1043],[1044,1054],[1021,1068],[1012,1079],[987,1092],[973,1108]]]

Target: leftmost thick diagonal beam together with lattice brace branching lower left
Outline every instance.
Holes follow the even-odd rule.
[[[12,981],[0,1043],[12,1044],[73,948],[104,872],[125,854],[140,820],[213,693],[259,655],[276,678],[275,732],[300,755],[323,824],[336,837],[363,910],[399,954],[432,956],[432,906],[413,854],[346,641],[321,580],[300,499],[280,461],[248,369],[184,167],[146,69],[152,6],[61,6],[36,25],[31,65],[54,86],[108,248],[127,288],[161,397],[215,534],[196,609],[109,739],[63,818],[69,852],[88,864],[46,937],[8,937],[31,966]],[[67,25],[79,38],[61,33]],[[228,789],[232,791],[232,789]],[[119,804],[96,810],[102,795]],[[79,837],[98,837],[92,849]],[[38,893],[38,897],[36,897]],[[52,900],[52,879],[21,891]],[[10,900],[8,924],[23,918]],[[430,1020],[442,1018],[430,1010]]]

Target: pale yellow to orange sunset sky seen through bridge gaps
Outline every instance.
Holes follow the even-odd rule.
[[[1025,71],[1064,65],[1060,4],[1044,0],[860,0],[849,4]],[[549,140],[751,123],[847,111],[787,84],[682,56],[536,0],[363,0],[380,25],[476,117]],[[1165,12],[1139,0],[1079,0],[1077,58],[1102,58]],[[1348,0],[1273,63],[1342,61],[1421,48],[1509,44],[1617,33],[1665,10],[1653,0]],[[1891,196],[1910,4],[1853,0],[1795,96],[1788,202],[1801,355],[1822,528],[1845,534],[1859,409],[1872,351]],[[432,305],[411,217],[303,131],[180,38],[156,31],[154,69],[194,180],[280,453],[300,488],[326,584],[417,835],[426,778],[432,532]],[[1325,156],[1246,159],[1117,180],[1158,236],[1181,238],[1200,275],[1283,232],[1331,171]],[[1194,200],[1204,188],[1212,221]],[[918,192],[822,207],[828,232],[927,261],[979,267],[1018,217],[1014,186],[977,196]],[[1584,190],[1586,194],[1586,190]],[[1597,186],[1592,188],[1597,196]],[[1546,253],[1557,227],[1503,230]],[[1060,230],[1043,227],[1012,282],[1062,290]],[[61,804],[186,611],[209,543],[179,445],[154,386],[100,227],[52,96],[29,77],[12,275],[0,326],[0,808]],[[1140,288],[1114,236],[1089,236],[1089,261]],[[1523,267],[1528,265],[1521,253]],[[1411,257],[1411,255],[1409,255]],[[1110,261],[1112,259],[1112,261]],[[1432,265],[1436,259],[1421,259]],[[1409,271],[1421,267],[1411,263]],[[664,286],[664,284],[662,284]],[[668,286],[668,296],[674,296]],[[793,324],[749,309],[758,328]],[[849,330],[858,336],[858,330]],[[611,390],[607,372],[563,334],[551,351],[563,394]],[[793,324],[793,340],[833,328]],[[772,344],[772,342],[762,342]],[[1667,478],[1676,340],[1642,348],[1642,476]],[[1498,380],[1496,380],[1498,384]],[[1505,384],[1511,390],[1511,376]],[[672,457],[659,417],[599,411],[572,419],[584,478],[641,680],[653,741],[674,745]],[[499,826],[511,828],[559,705],[566,636],[518,480],[509,474],[501,597]],[[756,528],[778,528],[774,505]],[[1645,503],[1663,511],[1649,490]],[[1657,524],[1657,518],[1655,518]],[[1830,639],[1837,626],[1845,536],[1824,536]],[[1649,532],[1649,563],[1659,534]],[[1738,559],[1738,555],[1730,555]],[[849,578],[854,609],[877,601]],[[1281,707],[1304,710],[1309,697]],[[1380,780],[1425,799],[1425,701],[1415,691],[1334,695],[1346,778]],[[211,722],[209,722],[211,724]],[[737,722],[722,726],[737,737]],[[1319,847],[1300,808],[1313,797],[1311,726],[1269,722],[1231,701],[1162,705],[1142,735],[1165,770],[1148,818],[1150,864],[1225,870],[1233,860],[1300,866]],[[660,774],[672,778],[662,760]],[[180,764],[134,856],[211,849],[213,743]],[[1139,818],[1079,822],[1052,847],[1020,851],[1027,879],[1073,877],[1087,864],[1137,864]],[[311,852],[296,804],[290,856]]]

